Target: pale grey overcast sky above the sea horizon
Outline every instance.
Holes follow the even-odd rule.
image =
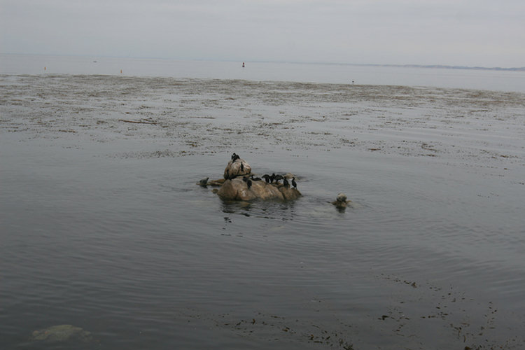
[[[0,52],[525,66],[524,0],[0,0]]]

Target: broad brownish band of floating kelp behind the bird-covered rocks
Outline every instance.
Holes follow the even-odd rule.
[[[348,149],[491,167],[525,152],[521,93],[115,76],[3,76],[2,92],[3,132],[165,145],[152,156]]]

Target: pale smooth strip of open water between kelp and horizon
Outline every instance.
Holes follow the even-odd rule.
[[[174,78],[457,87],[525,92],[524,71],[432,69],[349,64],[176,61],[111,57],[0,55],[0,73],[111,74]],[[122,73],[121,73],[122,71]]]

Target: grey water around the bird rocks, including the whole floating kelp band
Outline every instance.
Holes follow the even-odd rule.
[[[525,346],[525,95],[1,76],[6,349]],[[236,152],[295,202],[225,203]],[[339,192],[353,207],[329,203]],[[29,342],[72,324],[86,344]]]

